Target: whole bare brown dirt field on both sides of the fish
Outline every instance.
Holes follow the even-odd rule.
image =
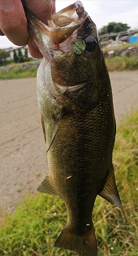
[[[112,72],[117,120],[138,108],[138,71]],[[13,210],[24,190],[35,194],[47,172],[36,78],[0,80],[0,206]],[[37,192],[39,193],[39,192]]]

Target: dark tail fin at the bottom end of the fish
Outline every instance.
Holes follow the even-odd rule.
[[[93,223],[91,226],[83,236],[76,235],[65,226],[54,246],[75,251],[78,256],[96,256],[97,242]]]

